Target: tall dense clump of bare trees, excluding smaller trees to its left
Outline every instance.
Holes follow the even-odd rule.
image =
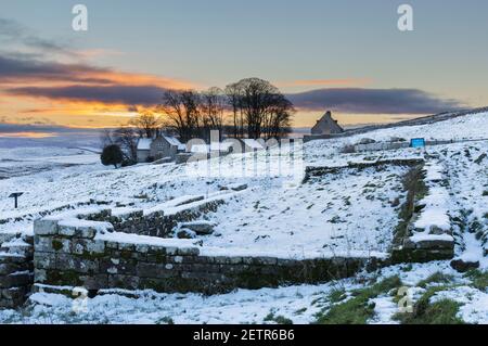
[[[168,90],[159,110],[166,115],[166,127],[183,141],[208,139],[211,130],[241,138],[283,137],[295,112],[278,88],[259,78],[242,79],[224,90]]]

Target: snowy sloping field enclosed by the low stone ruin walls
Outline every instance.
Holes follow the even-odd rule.
[[[406,172],[345,169],[295,189],[260,184],[210,216],[220,236],[204,245],[281,257],[381,256],[397,220],[394,202],[404,200]]]

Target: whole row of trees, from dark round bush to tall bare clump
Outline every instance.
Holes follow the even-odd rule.
[[[224,90],[167,90],[162,104],[144,110],[127,126],[106,131],[104,146],[116,144],[125,159],[137,159],[139,138],[163,132],[177,134],[182,142],[192,138],[209,140],[210,131],[234,138],[280,138],[290,132],[293,104],[269,81],[246,78]]]

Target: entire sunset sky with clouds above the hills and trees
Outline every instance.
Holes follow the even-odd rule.
[[[88,31],[72,28],[77,3]],[[413,31],[397,27],[402,3]],[[246,77],[288,97],[295,127],[326,110],[354,125],[484,106],[487,12],[485,0],[0,0],[0,124],[113,127],[165,89]]]

